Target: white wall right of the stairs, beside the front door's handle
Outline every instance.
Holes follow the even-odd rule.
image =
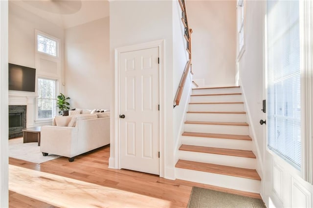
[[[246,98],[246,108],[250,116],[250,135],[259,148],[259,154],[264,160],[265,125],[259,121],[265,119],[261,111],[263,100],[263,1],[246,1],[245,14],[245,48],[246,51],[239,60],[240,85]],[[265,99],[265,98],[264,98]],[[259,171],[262,174],[261,171]]]

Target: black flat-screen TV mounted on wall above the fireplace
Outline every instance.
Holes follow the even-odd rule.
[[[9,90],[35,92],[36,69],[9,63]]]

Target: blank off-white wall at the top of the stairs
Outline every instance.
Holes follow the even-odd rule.
[[[207,86],[235,84],[235,0],[187,0],[193,78]]]

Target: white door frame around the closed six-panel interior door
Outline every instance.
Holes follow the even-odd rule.
[[[115,94],[114,94],[114,100],[115,100],[115,106],[114,106],[114,115],[113,120],[115,124],[115,137],[114,145],[112,148],[114,148],[114,159],[111,160],[113,164],[110,164],[110,167],[120,169],[120,125],[119,125],[119,114],[120,114],[120,81],[119,81],[119,62],[120,62],[120,54],[124,52],[130,52],[130,51],[136,51],[136,50],[143,50],[148,48],[155,48],[158,47],[159,52],[159,104],[160,104],[160,113],[159,113],[159,151],[160,151],[160,177],[164,177],[164,169],[165,169],[165,158],[164,158],[164,118],[165,118],[165,111],[164,111],[164,95],[165,95],[165,77],[164,77],[164,40],[157,40],[152,42],[145,42],[145,43],[139,43],[135,45],[129,45],[129,46],[123,46],[119,48],[115,48],[115,60],[114,60],[114,69],[115,69]],[[113,166],[112,166],[113,165]]]

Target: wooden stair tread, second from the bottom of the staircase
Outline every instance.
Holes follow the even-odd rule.
[[[229,156],[237,156],[237,157],[256,158],[252,151],[240,150],[240,149],[225,149],[225,148],[207,147],[207,146],[181,145],[179,147],[179,150],[219,154],[219,155],[229,155]]]

